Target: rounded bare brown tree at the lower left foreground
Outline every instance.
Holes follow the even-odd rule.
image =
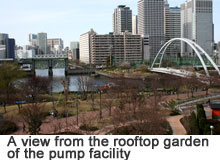
[[[28,125],[28,133],[37,135],[40,132],[44,116],[43,106],[38,103],[27,105],[21,110],[21,116],[24,122]]]

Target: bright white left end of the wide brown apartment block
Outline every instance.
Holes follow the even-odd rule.
[[[94,30],[91,29],[89,32],[80,35],[79,41],[79,50],[80,50],[80,61],[90,64],[91,57],[90,57],[90,38],[91,35],[95,34]]]

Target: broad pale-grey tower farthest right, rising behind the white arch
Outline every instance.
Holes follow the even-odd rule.
[[[191,0],[181,5],[181,37],[195,41],[208,54],[213,54],[212,0]],[[189,46],[182,43],[181,54],[193,55],[193,52]]]

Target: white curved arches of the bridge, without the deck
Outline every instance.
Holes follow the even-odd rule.
[[[156,60],[158,59],[159,55],[161,55],[161,59],[160,59],[160,63],[159,63],[159,67],[161,67],[161,64],[162,64],[162,60],[163,60],[163,57],[165,55],[165,52],[167,50],[167,48],[175,41],[181,41],[181,42],[185,42],[187,43],[196,53],[196,55],[198,56],[200,62],[202,63],[202,66],[205,70],[205,73],[207,76],[210,76],[209,74],[209,71],[207,69],[207,66],[202,58],[202,54],[204,54],[206,56],[206,58],[209,60],[209,62],[211,62],[212,66],[215,68],[215,70],[218,72],[218,74],[220,75],[220,70],[218,68],[218,66],[215,64],[215,62],[212,60],[212,58],[205,52],[204,49],[202,49],[202,47],[200,47],[198,44],[196,44],[195,42],[193,42],[192,40],[189,40],[189,39],[186,39],[186,38],[173,38],[171,40],[169,40],[168,42],[166,42],[162,48],[159,50],[159,52],[157,53],[153,63],[152,63],[152,66],[151,66],[151,69],[154,67],[155,63],[156,63]]]

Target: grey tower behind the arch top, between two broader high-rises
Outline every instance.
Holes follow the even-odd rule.
[[[173,38],[181,37],[181,9],[179,7],[170,7],[168,1],[165,1],[164,8],[165,18],[164,18],[164,32],[165,41],[169,41]],[[173,42],[170,47],[167,48],[166,54],[169,56],[179,56],[181,50],[180,41]]]

